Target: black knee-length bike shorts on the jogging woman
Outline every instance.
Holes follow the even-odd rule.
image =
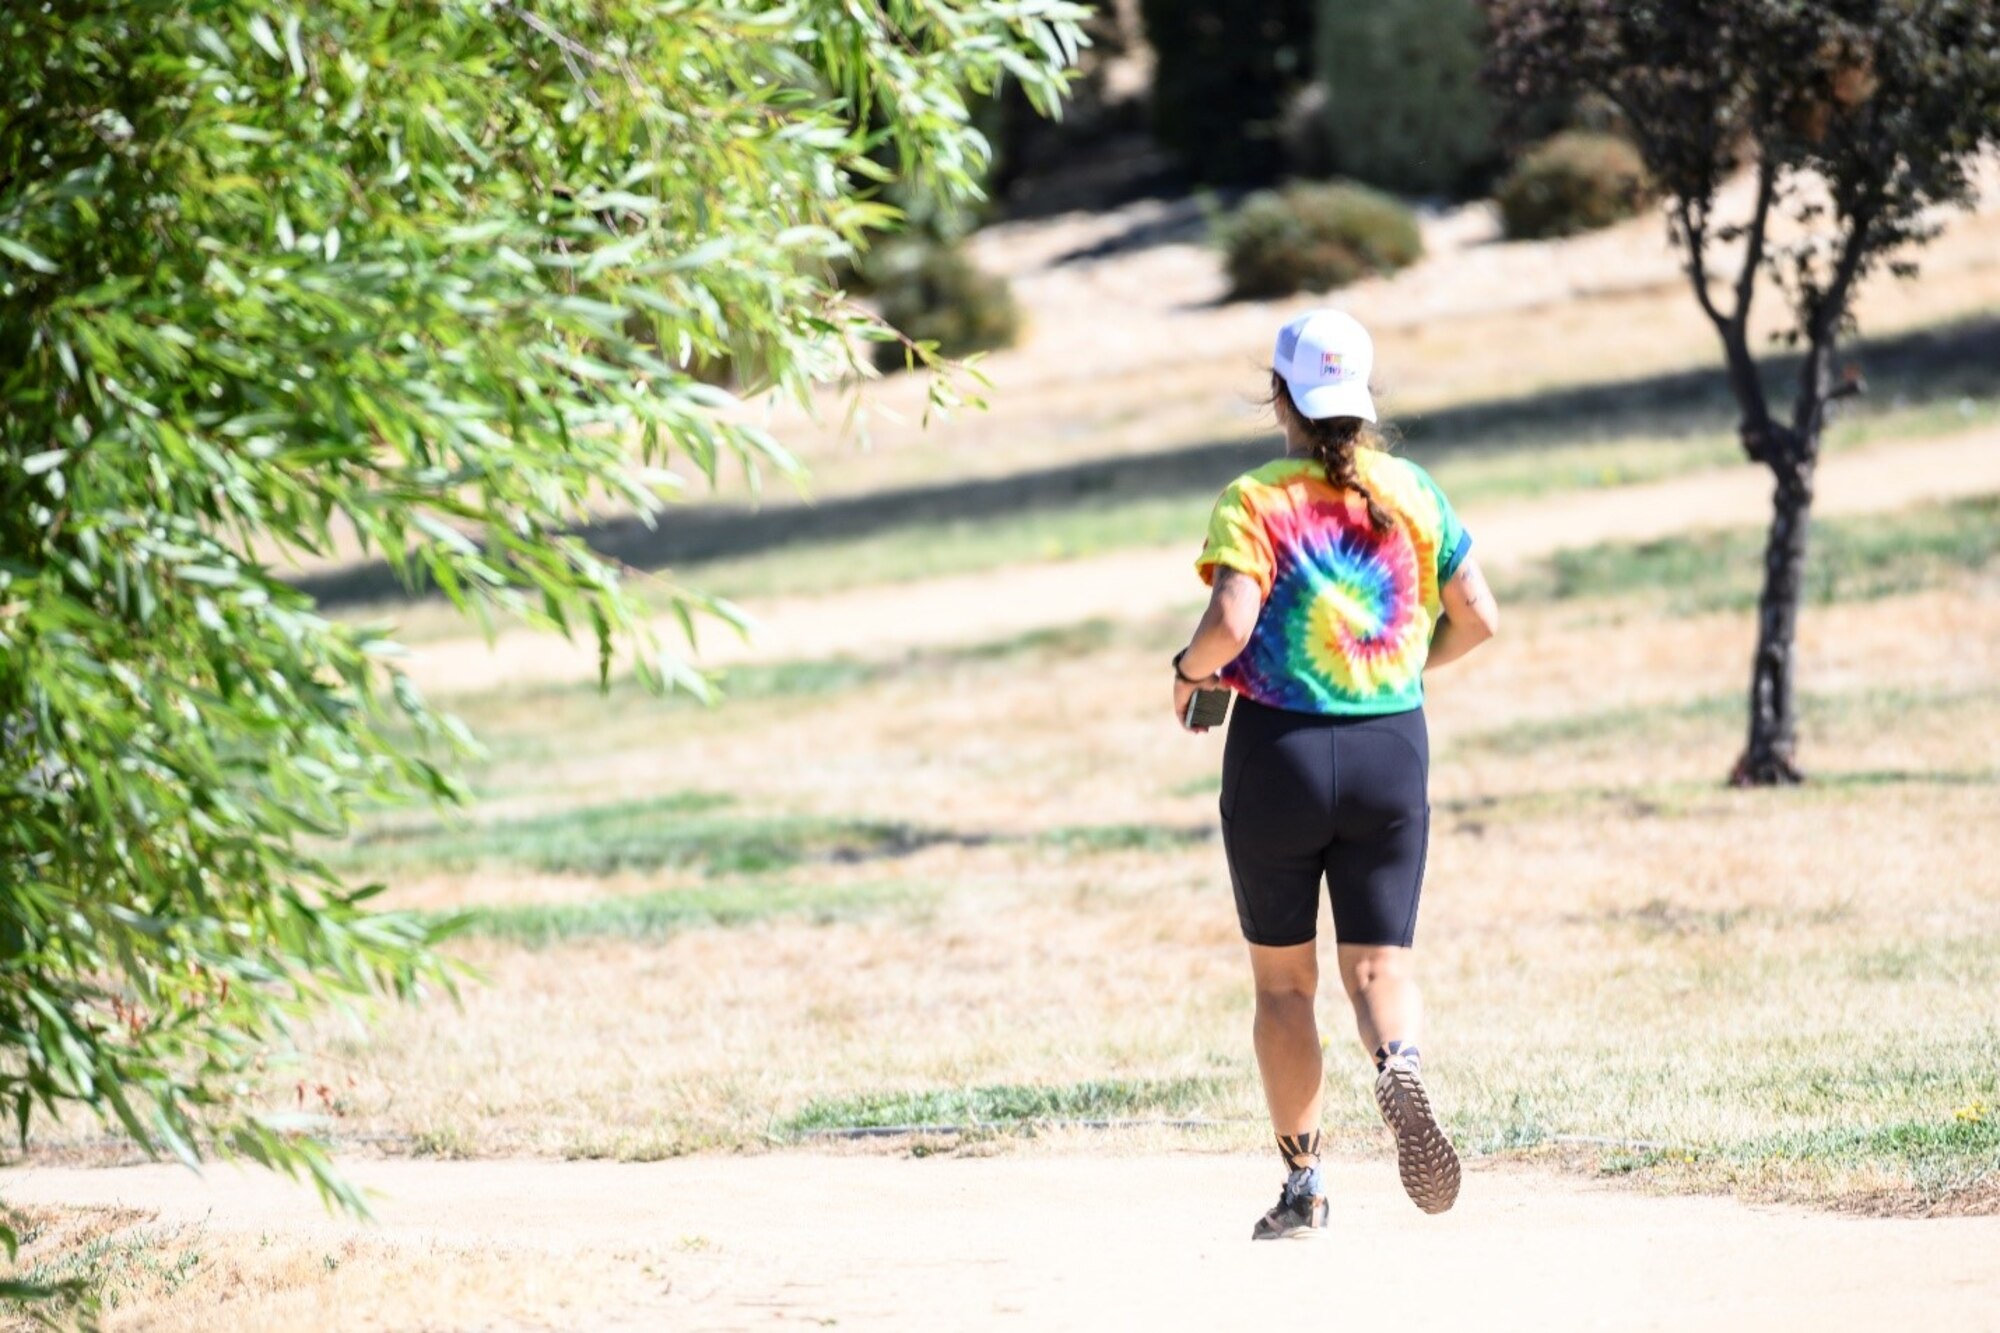
[[[1222,847],[1244,939],[1314,939],[1324,877],[1342,945],[1408,949],[1428,845],[1422,709],[1320,717],[1236,699],[1222,751]]]

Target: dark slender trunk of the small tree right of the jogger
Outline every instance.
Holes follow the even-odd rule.
[[[1798,636],[1798,598],[1806,574],[1806,526],[1812,514],[1812,470],[1818,432],[1786,440],[1774,462],[1770,534],[1764,540],[1764,590],[1758,594],[1756,658],[1750,666],[1750,743],[1744,747],[1734,787],[1786,787],[1802,783],[1796,763],[1798,707],[1792,658]]]

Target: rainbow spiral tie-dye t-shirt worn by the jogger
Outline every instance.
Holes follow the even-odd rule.
[[[1310,458],[1244,472],[1216,500],[1196,568],[1242,570],[1264,590],[1248,646],[1222,679],[1292,713],[1404,713],[1424,703],[1424,660],[1472,538],[1430,474],[1362,448],[1360,480],[1394,522],[1376,532],[1360,496]]]

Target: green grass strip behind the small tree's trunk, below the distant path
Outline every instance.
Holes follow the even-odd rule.
[[[1814,520],[1808,602],[1852,602],[1938,586],[2000,564],[2000,496],[1920,504],[1894,514]],[[1726,528],[1654,542],[1562,550],[1500,578],[1502,600],[1646,596],[1674,614],[1744,610],[1764,576],[1764,532]]]

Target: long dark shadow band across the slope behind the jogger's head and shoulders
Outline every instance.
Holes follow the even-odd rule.
[[[1868,376],[1870,404],[1908,408],[1992,398],[2000,394],[2000,316],[1862,342],[1852,348],[1850,360]],[[1770,368],[1778,400],[1784,400],[1796,368],[1796,358]],[[1398,426],[1412,452],[1438,460],[1512,448],[1704,434],[1728,430],[1734,422],[1736,404],[1722,370],[1704,368],[1416,412],[1400,418]],[[702,504],[666,512],[660,526],[646,526],[638,518],[606,518],[578,532],[600,554],[654,570],[902,526],[1214,494],[1270,454],[1268,436],[1212,440],[814,504]],[[300,576],[294,584],[326,606],[430,592],[406,588],[380,560]]]

